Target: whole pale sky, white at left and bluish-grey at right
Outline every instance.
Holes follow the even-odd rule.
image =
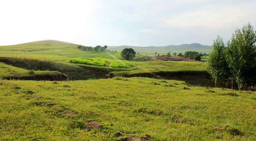
[[[212,45],[250,22],[256,0],[1,0],[0,45]]]

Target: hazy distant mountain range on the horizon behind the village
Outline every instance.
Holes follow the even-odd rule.
[[[167,45],[167,46],[148,46],[148,47],[140,47],[140,46],[129,46],[129,45],[122,45],[122,46],[109,46],[109,49],[113,51],[122,51],[124,48],[133,48],[136,52],[145,54],[153,54],[155,52],[160,54],[166,54],[167,52],[177,52],[177,53],[184,53],[186,51],[198,51],[198,52],[206,52],[209,53],[212,50],[212,46],[209,45],[201,45],[198,43],[193,44],[182,44],[182,45]]]

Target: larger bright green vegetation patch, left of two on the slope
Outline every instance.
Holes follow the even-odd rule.
[[[75,64],[105,66],[107,63],[107,60],[102,58],[74,58],[74,59],[68,60],[68,62],[75,63]]]

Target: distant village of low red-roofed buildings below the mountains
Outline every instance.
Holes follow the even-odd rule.
[[[188,57],[183,57],[183,56],[147,56],[148,59],[160,59],[164,61],[195,61],[195,59],[190,59]]]

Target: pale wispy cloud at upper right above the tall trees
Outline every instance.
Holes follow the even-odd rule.
[[[235,5],[215,3],[194,11],[184,11],[167,18],[164,23],[176,28],[226,28],[247,23],[256,13],[256,2]],[[254,22],[254,21],[252,21]]]

